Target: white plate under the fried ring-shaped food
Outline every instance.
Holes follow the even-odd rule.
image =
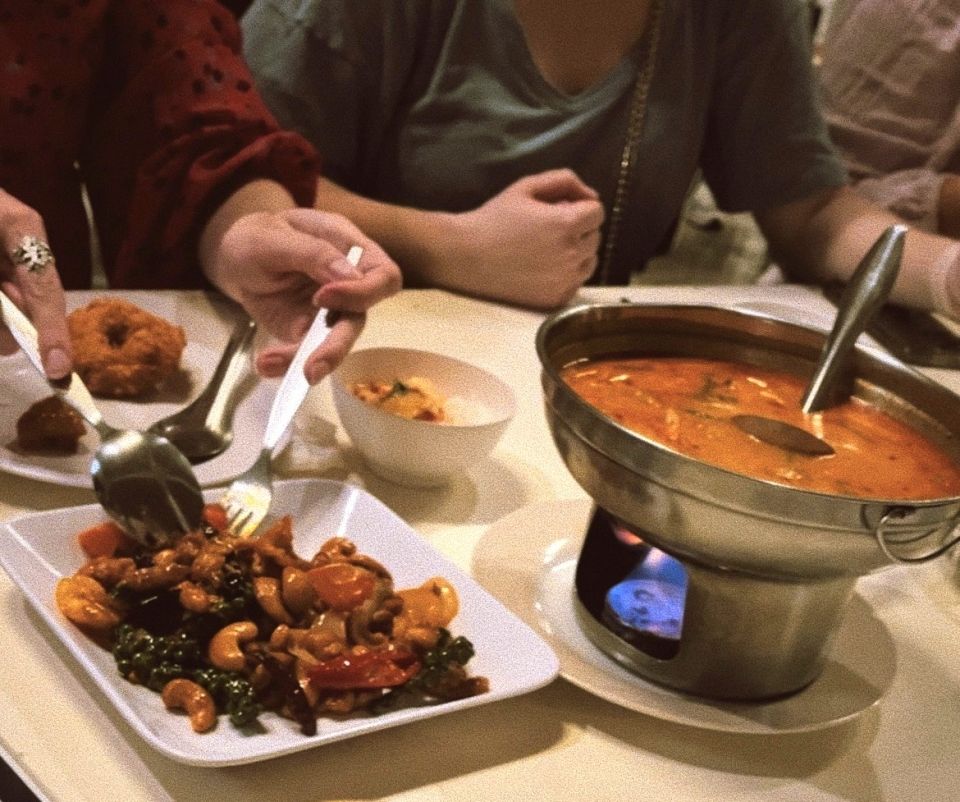
[[[146,429],[189,404],[213,375],[236,322],[238,307],[220,296],[201,291],[77,291],[67,293],[68,310],[86,307],[99,298],[123,299],[180,326],[186,346],[179,367],[162,386],[139,398],[97,398],[104,420],[118,429]],[[223,484],[245,470],[260,448],[259,432],[266,425],[276,381],[257,377],[253,367],[239,391],[234,413],[238,435],[222,454],[195,466],[203,486]],[[89,426],[76,453],[27,450],[17,439],[17,420],[37,401],[51,395],[49,386],[22,353],[0,357],[0,470],[45,482],[90,487],[90,459],[97,434]]]

